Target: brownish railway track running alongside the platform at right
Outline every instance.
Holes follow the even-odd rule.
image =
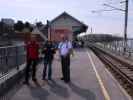
[[[133,97],[133,66],[111,57],[103,51],[98,50],[96,47],[92,46],[90,48],[106,65],[106,67],[113,72],[114,76]]]

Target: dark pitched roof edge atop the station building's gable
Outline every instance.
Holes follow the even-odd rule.
[[[62,16],[68,16],[68,17],[70,17],[71,19],[77,21],[78,23],[80,23],[80,24],[82,24],[82,25],[88,27],[86,24],[84,24],[83,22],[81,22],[81,21],[79,21],[78,19],[74,18],[73,16],[71,16],[71,15],[68,14],[67,12],[63,12],[62,14],[60,14],[59,16],[57,16],[56,18],[54,18],[50,23],[55,22],[57,19],[59,19],[59,18],[62,17]]]

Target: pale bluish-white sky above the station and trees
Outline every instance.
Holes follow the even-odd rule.
[[[66,11],[92,28],[94,33],[107,33],[117,36],[124,34],[124,12],[114,10],[92,13],[93,10],[111,9],[104,3],[124,9],[123,0],[0,0],[0,18],[13,18],[15,21],[35,23],[52,20]],[[133,37],[133,0],[129,0],[128,37]]]

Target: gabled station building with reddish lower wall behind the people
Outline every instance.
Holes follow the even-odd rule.
[[[60,41],[61,35],[67,35],[69,40],[76,39],[76,36],[82,32],[86,32],[88,26],[70,14],[63,12],[48,23],[48,38],[52,41]]]

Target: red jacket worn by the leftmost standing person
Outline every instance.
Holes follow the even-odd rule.
[[[27,42],[26,49],[27,49],[27,59],[38,59],[39,45],[36,41]]]

